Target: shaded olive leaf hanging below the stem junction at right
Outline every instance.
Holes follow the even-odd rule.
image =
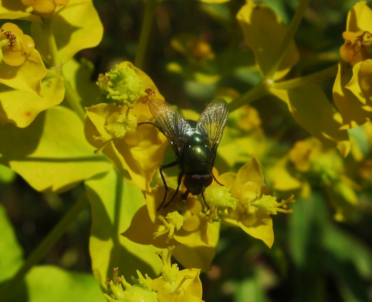
[[[270,92],[288,105],[293,119],[327,146],[337,146],[342,156],[350,150],[346,130],[340,130],[341,116],[318,85]]]

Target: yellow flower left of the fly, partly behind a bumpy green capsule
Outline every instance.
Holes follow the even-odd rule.
[[[138,78],[141,83],[138,94],[125,105],[98,104],[86,108],[86,137],[97,147],[96,154],[103,150],[119,171],[127,170],[138,187],[150,190],[153,174],[163,161],[167,138],[159,135],[157,127],[137,124],[154,120],[148,109],[150,97],[164,98],[143,71],[129,62],[118,66],[131,69],[129,76],[135,74]]]

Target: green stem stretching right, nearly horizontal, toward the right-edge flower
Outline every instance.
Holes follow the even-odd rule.
[[[292,89],[299,86],[319,83],[336,76],[338,64],[332,65],[326,69],[305,75],[304,77],[295,78],[288,81],[272,83],[270,86],[275,89]]]

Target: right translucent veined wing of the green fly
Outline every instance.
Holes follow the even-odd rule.
[[[200,114],[196,128],[207,133],[209,148],[213,153],[217,151],[228,117],[228,103],[224,99],[215,99]]]

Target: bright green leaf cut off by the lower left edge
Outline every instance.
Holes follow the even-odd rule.
[[[23,251],[19,246],[13,226],[3,205],[0,204],[0,281],[11,278],[23,263]]]

